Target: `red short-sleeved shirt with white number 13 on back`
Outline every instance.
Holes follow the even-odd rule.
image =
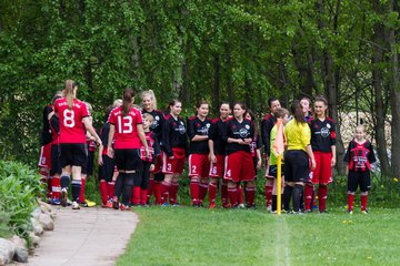
[[[131,108],[126,116],[122,116],[122,108],[111,111],[109,123],[116,126],[114,149],[140,149],[138,124],[142,124],[142,116],[138,109]]]

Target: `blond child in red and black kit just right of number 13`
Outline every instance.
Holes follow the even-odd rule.
[[[132,205],[133,206],[149,206],[148,202],[148,187],[150,172],[154,171],[156,157],[160,154],[160,146],[154,132],[150,131],[153,124],[153,116],[149,113],[143,113],[143,131],[146,134],[146,141],[149,146],[149,156],[146,156],[144,145],[140,146],[140,156],[143,163],[143,170],[140,174],[140,178],[134,180]]]

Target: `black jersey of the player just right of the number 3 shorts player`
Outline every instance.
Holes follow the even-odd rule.
[[[211,120],[206,117],[204,121],[201,121],[197,115],[188,119],[188,136],[190,140],[189,154],[208,154],[208,139],[204,141],[192,141],[196,135],[207,135],[209,134],[209,129],[211,126]]]

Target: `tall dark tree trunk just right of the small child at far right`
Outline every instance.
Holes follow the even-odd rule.
[[[373,1],[373,8],[377,13],[381,14],[381,6],[379,0]],[[380,168],[382,175],[389,174],[389,160],[388,160],[388,143],[384,136],[384,119],[386,119],[386,108],[383,99],[383,76],[382,72],[379,69],[379,65],[383,63],[383,45],[384,45],[384,27],[383,24],[377,22],[373,25],[373,45],[372,51],[372,82],[374,90],[374,108],[376,108],[376,119],[374,119],[374,133],[377,140],[377,152],[380,161]]]

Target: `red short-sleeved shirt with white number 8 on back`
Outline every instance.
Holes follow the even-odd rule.
[[[73,99],[72,110],[66,98],[58,99],[54,112],[60,119],[60,143],[86,143],[83,117],[89,116],[84,102]]]

